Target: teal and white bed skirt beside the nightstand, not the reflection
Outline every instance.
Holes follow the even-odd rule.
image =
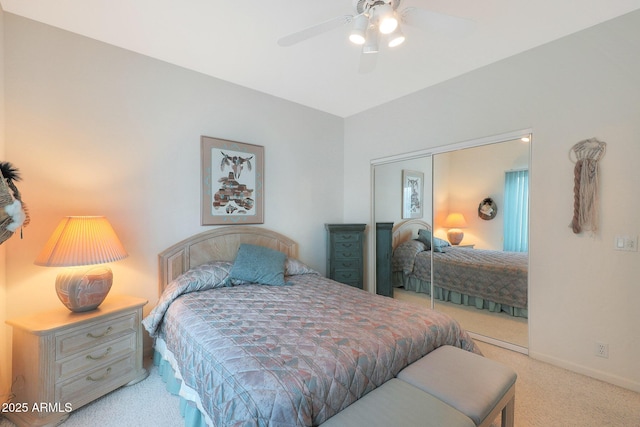
[[[180,397],[180,415],[185,427],[207,427],[213,423],[201,409],[200,397],[182,382],[180,372],[175,368],[176,360],[161,338],[156,339],[153,352],[153,364],[164,381],[167,391]]]

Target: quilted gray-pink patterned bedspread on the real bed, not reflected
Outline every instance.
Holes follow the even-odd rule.
[[[317,274],[287,280],[174,289],[143,322],[214,425],[318,425],[441,345],[479,353],[442,313]]]

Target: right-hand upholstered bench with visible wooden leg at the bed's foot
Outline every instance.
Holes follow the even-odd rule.
[[[490,426],[501,411],[502,427],[513,427],[517,374],[508,366],[443,346],[397,377],[456,408],[478,427]]]

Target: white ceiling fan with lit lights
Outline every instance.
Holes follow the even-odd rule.
[[[452,37],[469,34],[474,22],[417,7],[399,10],[401,0],[353,0],[354,15],[341,15],[278,40],[280,46],[292,46],[304,40],[331,31],[345,24],[353,24],[349,40],[362,46],[363,56],[378,53],[382,41],[388,47],[396,47],[405,41],[400,23],[428,31],[436,31]],[[375,55],[373,56],[375,58]],[[373,69],[375,62],[361,62],[360,71]]]

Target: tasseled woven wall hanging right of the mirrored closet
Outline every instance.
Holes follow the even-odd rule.
[[[578,142],[569,152],[571,160],[575,159],[571,228],[576,234],[598,229],[598,161],[606,147],[605,142],[592,138]]]

